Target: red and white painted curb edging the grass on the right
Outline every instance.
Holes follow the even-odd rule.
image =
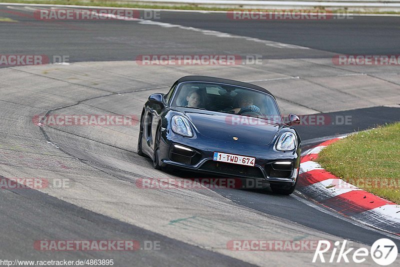
[[[344,216],[400,235],[400,205],[337,178],[314,161],[324,147],[344,137],[327,140],[301,154],[297,191]]]

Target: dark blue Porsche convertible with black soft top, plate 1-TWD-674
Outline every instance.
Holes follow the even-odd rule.
[[[273,192],[294,191],[300,137],[286,122],[275,98],[256,85],[185,76],[167,94],[152,94],[140,117],[137,153],[154,168],[173,166],[270,184]]]

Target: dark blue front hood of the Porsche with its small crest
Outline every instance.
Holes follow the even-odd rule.
[[[281,124],[220,112],[184,111],[197,132],[208,138],[221,141],[252,145],[268,145],[279,130]],[[236,137],[237,140],[234,140]]]

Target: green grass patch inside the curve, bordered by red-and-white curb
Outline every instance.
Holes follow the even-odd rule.
[[[339,140],[324,148],[317,161],[336,177],[400,204],[400,123]]]

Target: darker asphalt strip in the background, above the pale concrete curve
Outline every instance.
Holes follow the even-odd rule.
[[[302,50],[301,53],[273,47],[265,49],[247,42],[245,47],[237,46],[234,42],[226,43],[223,39],[204,38],[198,34],[183,38],[170,35],[169,31],[129,21],[38,21],[33,16],[33,10],[26,10],[23,6],[12,6],[12,9],[7,9],[6,5],[1,6],[0,17],[17,21],[1,27],[2,36],[12,37],[1,40],[2,53],[20,53],[21,49],[24,53],[42,52],[46,55],[62,52],[70,56],[71,62],[132,60],[141,54],[162,53],[251,52],[276,59],[320,58],[330,56],[331,53],[386,55],[398,53],[400,42],[397,17],[236,21],[228,19],[225,13],[163,11],[155,14],[156,18],[152,20],[312,48],[309,51]]]

